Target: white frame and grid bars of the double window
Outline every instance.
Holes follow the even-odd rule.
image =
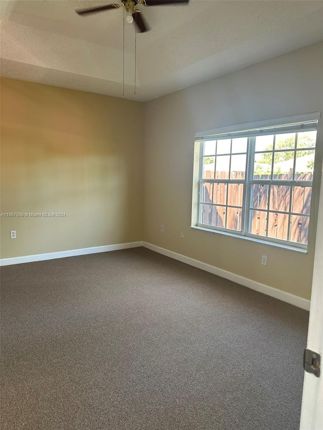
[[[263,185],[280,185],[280,186],[289,186],[291,187],[291,191],[293,187],[297,186],[310,186],[313,187],[313,181],[310,180],[301,180],[297,181],[295,180],[295,177],[293,176],[293,179],[289,180],[280,180],[280,179],[254,179],[253,178],[253,164],[254,164],[254,156],[255,156],[255,139],[256,136],[259,135],[276,135],[281,133],[297,133],[297,132],[304,132],[304,131],[313,131],[317,130],[317,122],[320,118],[321,112],[311,112],[303,115],[294,115],[284,118],[276,118],[276,119],[270,119],[265,121],[257,121],[257,122],[251,122],[247,124],[240,124],[236,126],[229,126],[224,127],[221,129],[215,129],[215,130],[208,130],[204,132],[198,132],[195,133],[195,156],[194,156],[194,175],[193,175],[193,201],[192,201],[192,227],[198,227],[203,230],[212,231],[212,232],[218,232],[218,233],[227,233],[231,236],[236,237],[243,237],[243,238],[249,238],[251,240],[259,241],[262,243],[268,243],[268,244],[277,244],[279,246],[283,246],[285,248],[295,248],[300,249],[306,252],[308,244],[305,243],[299,243],[299,242],[293,242],[290,240],[283,240],[283,239],[277,239],[274,237],[268,237],[268,236],[261,236],[253,233],[249,233],[248,231],[251,231],[250,223],[251,223],[251,216],[250,216],[250,208],[251,208],[251,188],[253,184],[263,184]],[[279,132],[279,133],[278,133]],[[246,174],[244,179],[205,179],[201,177],[201,172],[203,171],[203,143],[207,141],[213,141],[213,140],[222,140],[222,139],[234,139],[234,138],[241,138],[241,137],[247,137],[247,165],[246,165]],[[316,138],[317,143],[317,138]],[[316,148],[316,147],[315,147]],[[315,148],[313,148],[315,150]],[[275,147],[273,147],[274,151]],[[231,149],[232,150],[232,149]],[[295,174],[295,162],[296,162],[296,151],[300,150],[297,148],[297,142],[295,142],[294,147],[294,174]],[[304,149],[308,150],[308,149]],[[267,152],[273,152],[273,151],[267,151]],[[286,151],[284,149],[280,151]],[[266,152],[266,151],[261,151]],[[277,152],[277,150],[276,150]],[[245,153],[245,152],[244,152]],[[274,152],[273,152],[274,154]],[[238,153],[234,153],[234,155],[238,155]],[[274,156],[273,156],[273,164],[272,164],[272,172],[273,172],[273,165],[274,165]],[[224,227],[217,227],[217,226],[211,226],[202,224],[200,222],[200,195],[202,192],[203,183],[210,182],[210,183],[243,183],[244,185],[244,193],[243,193],[243,203],[242,203],[242,222],[241,222],[241,231],[232,230]],[[269,188],[269,187],[268,187]],[[313,198],[313,196],[312,196]],[[248,202],[248,203],[247,203]],[[227,201],[228,203],[228,186],[227,186]],[[268,195],[268,207],[270,204],[270,196]],[[207,203],[206,203],[207,205]],[[217,204],[212,204],[213,206],[219,206]],[[222,205],[220,205],[222,206]],[[290,198],[289,202],[289,212],[287,212],[289,216],[289,220],[291,217],[291,206],[292,206],[292,198]],[[312,205],[311,205],[312,206]],[[226,208],[230,207],[228,205],[225,206]],[[258,209],[255,209],[258,210]],[[268,209],[265,210],[267,214]],[[278,211],[279,212],[279,211]],[[286,212],[283,212],[286,214]],[[293,212],[294,214],[294,212]],[[299,214],[301,216],[308,216],[311,217],[311,210],[308,215],[306,214]],[[268,218],[268,217],[267,217]],[[269,220],[267,219],[267,225]],[[288,223],[288,232],[290,231],[290,222]],[[289,234],[288,234],[289,237]]]

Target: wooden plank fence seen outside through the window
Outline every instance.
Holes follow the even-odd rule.
[[[204,177],[212,178],[213,173],[213,171],[206,171]],[[227,172],[216,172],[217,178],[226,178],[226,175]],[[243,179],[243,175],[244,172],[233,172],[231,178]],[[270,177],[255,175],[254,179],[270,179]],[[277,174],[273,179],[287,180],[289,174]],[[313,175],[312,173],[299,173],[295,175],[295,179],[312,180]],[[205,183],[202,197],[205,203],[202,222],[232,230],[241,230],[243,187],[243,183],[229,183],[228,185],[226,183]],[[307,243],[312,189],[302,186],[301,183],[299,186],[293,187],[293,190],[291,188],[286,185],[253,185],[252,208],[250,209],[251,233]],[[280,213],[290,211],[292,212],[290,220],[288,214]],[[288,223],[290,223],[290,238],[288,238]]]

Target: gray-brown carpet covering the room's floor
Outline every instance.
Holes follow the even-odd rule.
[[[3,430],[296,430],[308,313],[144,248],[3,267]]]

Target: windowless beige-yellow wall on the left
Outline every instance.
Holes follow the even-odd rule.
[[[67,214],[1,217],[1,258],[142,240],[142,103],[2,79],[1,121],[1,212]]]

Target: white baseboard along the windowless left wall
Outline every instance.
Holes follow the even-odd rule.
[[[125,250],[128,248],[141,247],[142,242],[117,243],[114,245],[105,245],[104,247],[81,248],[79,250],[59,251],[57,253],[26,255],[22,257],[0,259],[0,266],[9,266],[11,264],[31,263],[33,261],[52,260],[55,258],[73,257],[85,254],[106,253],[108,251]]]

